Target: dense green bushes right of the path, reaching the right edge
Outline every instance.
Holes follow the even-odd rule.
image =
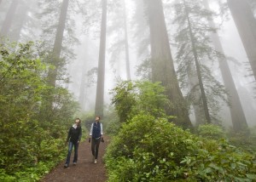
[[[256,179],[254,155],[225,140],[201,139],[165,118],[143,114],[123,124],[104,157],[108,181]]]

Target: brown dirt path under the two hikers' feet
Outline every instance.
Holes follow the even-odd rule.
[[[76,166],[73,166],[73,153],[68,168],[63,168],[65,161],[57,165],[40,182],[104,182],[107,181],[106,169],[102,161],[109,144],[109,137],[104,136],[105,142],[100,144],[98,162],[94,164],[90,151],[90,143],[85,140],[79,145],[79,159]]]

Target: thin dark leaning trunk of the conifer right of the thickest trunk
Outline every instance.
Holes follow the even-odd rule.
[[[202,100],[202,105],[204,108],[205,118],[206,118],[207,123],[211,123],[211,117],[210,117],[209,108],[208,108],[208,104],[207,104],[207,95],[206,95],[205,88],[204,88],[204,85],[202,82],[202,77],[201,77],[201,65],[199,63],[197,51],[195,48],[195,38],[194,38],[194,34],[193,34],[192,27],[190,24],[189,13],[187,10],[187,5],[186,5],[185,0],[183,0],[183,3],[185,4],[185,11],[186,11],[188,26],[189,26],[189,37],[190,37],[190,41],[192,44],[192,52],[193,52],[193,56],[194,56],[194,60],[195,60],[195,69],[196,69],[198,83],[199,83],[199,87],[200,87],[200,91],[201,91],[201,100]]]

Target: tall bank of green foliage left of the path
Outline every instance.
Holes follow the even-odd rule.
[[[50,66],[33,43],[1,44],[0,60],[0,180],[36,181],[66,153],[78,104],[67,89],[45,83]],[[53,96],[52,107],[45,95]]]

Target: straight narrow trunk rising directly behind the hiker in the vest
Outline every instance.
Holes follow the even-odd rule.
[[[95,115],[103,116],[104,106],[104,83],[105,83],[105,52],[106,52],[106,29],[107,29],[107,0],[102,0],[102,27],[101,42],[98,61],[98,76],[96,87]]]

